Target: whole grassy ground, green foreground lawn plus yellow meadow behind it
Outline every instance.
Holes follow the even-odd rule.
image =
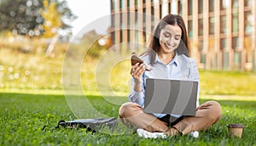
[[[38,53],[38,49],[32,53],[0,49],[0,145],[256,145],[255,72],[200,70],[201,103],[209,98],[218,100],[223,117],[200,132],[199,138],[139,138],[120,122],[112,132],[55,129],[60,120],[118,117],[119,105],[128,100],[130,87],[129,58],[112,64],[108,72],[99,71],[96,77],[96,69],[102,64],[85,56],[80,69],[84,95],[64,97],[61,76],[66,46],[56,49],[54,58]],[[111,59],[115,63],[111,56],[105,63],[111,63]],[[99,93],[98,87],[104,89],[105,84],[115,96]],[[241,139],[228,137],[229,123],[246,126]]]

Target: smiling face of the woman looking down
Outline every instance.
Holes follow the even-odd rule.
[[[160,31],[160,51],[163,53],[172,53],[182,36],[182,29],[178,25],[166,25]]]

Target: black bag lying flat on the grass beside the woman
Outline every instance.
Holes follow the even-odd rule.
[[[59,121],[56,128],[68,127],[68,128],[87,128],[87,131],[96,132],[108,126],[109,129],[113,129],[114,126],[117,126],[118,121],[115,117],[110,117],[106,119],[79,119],[73,121]]]

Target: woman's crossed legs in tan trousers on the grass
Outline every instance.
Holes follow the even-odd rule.
[[[194,116],[184,116],[183,120],[172,126],[183,135],[193,131],[206,130],[216,123],[222,114],[218,102],[208,101],[196,109]],[[136,103],[127,102],[119,109],[119,118],[127,126],[143,128],[148,132],[167,132],[168,124],[157,117],[143,112],[143,108]]]

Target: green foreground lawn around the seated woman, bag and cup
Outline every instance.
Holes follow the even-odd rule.
[[[74,98],[78,98],[75,97]],[[81,98],[81,97],[80,97]],[[100,96],[86,96],[93,107],[106,116],[118,116],[119,105],[109,104]],[[125,97],[113,97],[120,103]],[[55,129],[57,121],[74,120],[63,95],[1,93],[0,96],[0,145],[255,145],[256,101],[219,100],[222,119],[204,132],[199,138],[177,136],[166,139],[139,138],[119,123],[113,132],[86,132],[84,129]],[[207,99],[201,99],[201,103]],[[89,105],[84,104],[86,110]],[[82,118],[91,118],[90,111]],[[81,117],[79,117],[81,118]],[[227,125],[241,123],[247,126],[242,138],[229,138]],[[44,131],[42,128],[45,127]]]

